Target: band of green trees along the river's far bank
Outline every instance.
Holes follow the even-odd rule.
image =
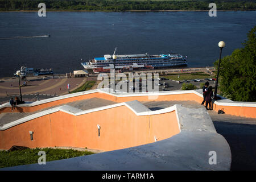
[[[39,3],[48,10],[129,11],[129,10],[209,10],[216,3],[217,10],[255,10],[256,1],[143,1],[143,0],[0,0],[0,10],[38,10]]]

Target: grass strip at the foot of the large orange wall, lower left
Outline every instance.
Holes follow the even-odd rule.
[[[73,149],[34,148],[16,151],[0,151],[0,168],[38,163],[39,151],[46,152],[46,163],[51,160],[75,158],[82,155],[94,154],[89,151],[77,151]]]

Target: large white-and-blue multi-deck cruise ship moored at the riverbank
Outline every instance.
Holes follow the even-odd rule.
[[[111,55],[104,57],[95,57],[88,62],[81,63],[85,69],[92,69],[94,73],[110,72],[115,67],[115,71],[133,71],[137,69],[155,69],[164,67],[177,67],[187,65],[187,56],[183,57],[177,53],[169,53],[167,55],[115,55],[114,59]]]

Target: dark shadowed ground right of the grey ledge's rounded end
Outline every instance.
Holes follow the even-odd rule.
[[[213,124],[229,143],[231,170],[256,170],[256,125],[217,121]]]

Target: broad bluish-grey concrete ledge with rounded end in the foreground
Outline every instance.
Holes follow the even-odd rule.
[[[209,164],[216,151],[217,164]],[[229,145],[217,133],[182,131],[174,137],[143,146],[0,170],[229,170]]]

